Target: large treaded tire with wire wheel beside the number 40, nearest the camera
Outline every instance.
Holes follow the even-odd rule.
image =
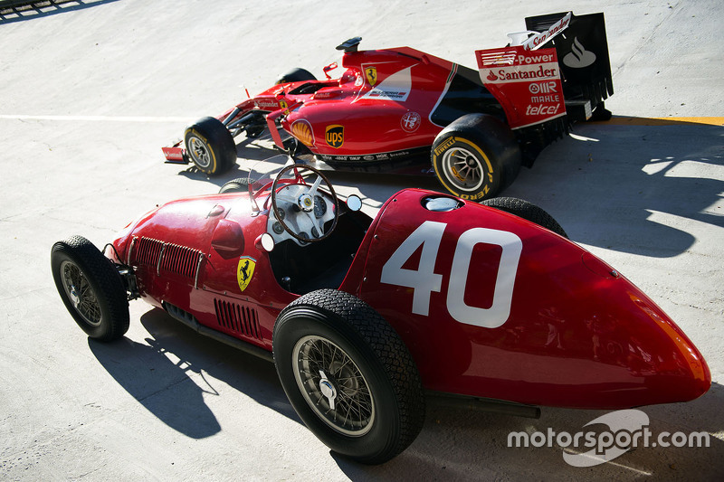
[[[364,301],[334,289],[304,295],[277,318],[272,345],[291,405],[329,449],[380,464],[422,429],[424,395],[412,355]],[[359,409],[356,416],[334,419],[350,407]]]

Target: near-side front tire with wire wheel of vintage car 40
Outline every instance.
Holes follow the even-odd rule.
[[[82,236],[51,250],[52,278],[62,302],[91,338],[111,341],[129,330],[129,300],[118,271]]]

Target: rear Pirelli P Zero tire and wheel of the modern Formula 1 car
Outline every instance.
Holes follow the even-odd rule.
[[[470,201],[493,197],[512,184],[522,159],[510,128],[487,114],[468,114],[443,128],[431,156],[443,187]]]

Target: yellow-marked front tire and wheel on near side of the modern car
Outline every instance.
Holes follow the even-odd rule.
[[[236,145],[231,132],[218,118],[200,118],[186,128],[186,154],[207,175],[220,175],[236,163]]]

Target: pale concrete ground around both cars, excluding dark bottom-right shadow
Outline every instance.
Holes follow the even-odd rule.
[[[603,11],[612,122],[576,128],[507,191],[643,288],[707,359],[710,392],[645,407],[654,433],[706,431],[710,447],[638,448],[574,468],[511,431],[575,433],[605,411],[539,420],[430,406],[402,455],[365,467],[330,454],[271,364],[199,338],[132,302],[127,336],[90,341],[58,297],[52,243],[102,246],[139,213],[214,193],[160,147],[292,67],[321,75],[334,49],[409,45],[474,67],[529,14]],[[724,477],[724,48],[719,0],[387,2],[83,0],[0,18],[0,479],[702,479]],[[667,120],[656,120],[664,118]],[[263,143],[240,146],[250,159]],[[430,180],[335,175],[367,210]]]

